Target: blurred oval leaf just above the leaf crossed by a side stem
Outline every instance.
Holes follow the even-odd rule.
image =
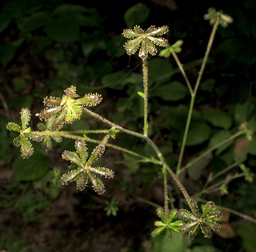
[[[210,108],[204,110],[203,115],[205,120],[215,127],[229,129],[232,125],[231,117],[221,110]]]

